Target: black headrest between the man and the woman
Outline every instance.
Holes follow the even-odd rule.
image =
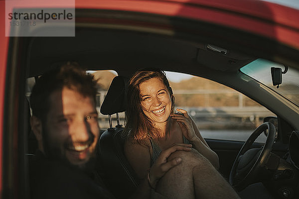
[[[116,76],[109,87],[107,95],[101,105],[103,115],[112,115],[126,110],[126,84],[128,79]]]

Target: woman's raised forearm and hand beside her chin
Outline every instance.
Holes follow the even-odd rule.
[[[218,155],[210,149],[206,141],[203,139],[194,120],[184,109],[177,108],[176,110],[183,113],[183,115],[173,114],[171,115],[171,118],[175,119],[178,122],[183,135],[191,142],[193,148],[195,148],[200,154],[207,158],[212,163],[212,165],[216,169],[218,169]]]

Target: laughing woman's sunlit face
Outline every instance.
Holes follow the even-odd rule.
[[[157,78],[139,86],[144,113],[153,121],[167,121],[171,112],[171,99],[166,86]]]

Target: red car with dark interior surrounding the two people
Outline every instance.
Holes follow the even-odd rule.
[[[206,138],[219,156],[219,172],[236,185],[241,198],[299,196],[298,7],[263,0],[75,3],[74,37],[5,37],[1,28],[2,199],[30,197],[28,149],[32,142],[26,81],[67,61],[76,61],[86,70],[114,70],[127,78],[138,69],[158,67],[220,83],[256,101],[272,112],[271,117],[261,118],[271,124],[258,128],[269,139],[266,144],[249,139],[244,145],[240,140]],[[5,13],[4,1],[0,9]],[[4,17],[0,20],[4,24]],[[245,148],[263,150],[250,149],[256,153],[248,155]],[[245,154],[251,163],[239,182],[235,178],[238,159]],[[123,179],[109,181],[114,172],[105,170],[107,187],[117,198],[130,195],[122,188]]]

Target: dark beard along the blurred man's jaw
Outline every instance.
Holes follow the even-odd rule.
[[[88,172],[88,173],[92,172],[92,170],[94,170],[95,164],[96,164],[96,152],[95,151],[93,152],[93,154],[91,155],[91,157],[89,158],[89,160],[86,163],[75,165],[75,164],[72,164],[66,158],[65,151],[61,150],[59,148],[59,146],[56,146],[50,142],[49,132],[46,130],[44,125],[42,125],[42,141],[43,141],[43,150],[44,150],[45,156],[48,159],[58,160],[64,164],[67,164],[71,167],[80,169],[80,170],[82,170],[84,172]],[[97,143],[97,146],[98,146],[98,143]],[[97,146],[96,146],[96,149],[97,149]]]

